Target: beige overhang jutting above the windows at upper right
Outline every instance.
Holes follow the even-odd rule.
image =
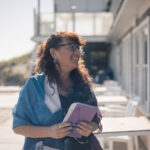
[[[150,7],[150,0],[125,0],[114,20],[108,41],[119,41]]]

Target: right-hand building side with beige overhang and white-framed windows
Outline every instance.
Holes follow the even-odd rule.
[[[129,99],[139,101],[137,115],[150,117],[150,0],[124,0],[117,10],[115,2],[109,64]],[[150,148],[148,137],[141,139]]]

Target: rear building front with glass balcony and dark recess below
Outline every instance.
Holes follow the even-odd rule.
[[[107,12],[105,0],[38,0],[34,11],[34,35],[37,45],[58,31],[71,31],[81,35],[85,64],[94,76],[98,70],[108,67],[110,44],[107,35],[112,25],[112,14]],[[34,59],[36,48],[33,52]],[[101,59],[98,59],[99,58]],[[33,66],[31,65],[30,74]]]

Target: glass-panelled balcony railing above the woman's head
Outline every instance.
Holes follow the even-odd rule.
[[[34,14],[35,36],[47,36],[60,30],[76,32],[82,36],[106,36],[112,22],[111,13]]]

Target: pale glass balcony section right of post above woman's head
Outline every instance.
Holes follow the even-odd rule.
[[[111,13],[75,13],[75,31],[85,36],[107,35],[112,22]]]

